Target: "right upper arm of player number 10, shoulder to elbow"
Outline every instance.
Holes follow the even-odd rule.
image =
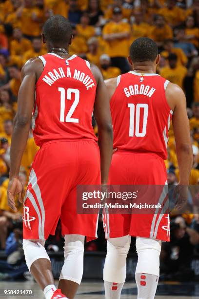
[[[166,98],[173,110],[172,124],[176,146],[180,149],[189,150],[191,139],[184,92],[178,85],[169,83],[166,88]]]

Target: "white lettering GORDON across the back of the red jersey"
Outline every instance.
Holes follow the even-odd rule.
[[[124,87],[124,93],[127,97],[130,97],[132,95],[137,95],[137,94],[143,94],[147,97],[151,97],[152,94],[156,91],[156,88],[150,87],[149,85],[130,85],[129,87]]]

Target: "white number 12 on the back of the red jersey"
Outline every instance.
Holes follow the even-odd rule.
[[[66,123],[79,123],[79,118],[71,118],[73,115],[75,108],[78,106],[78,103],[80,101],[80,90],[74,89],[74,88],[68,88],[66,92],[66,99],[71,100],[72,93],[75,94],[75,101],[73,102],[70,110],[68,111],[68,114],[66,115],[66,119],[64,120],[65,115],[65,88],[59,87],[58,90],[61,93],[61,99],[60,99],[60,122],[66,122]]]

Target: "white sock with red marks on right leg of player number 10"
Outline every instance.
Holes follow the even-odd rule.
[[[136,273],[138,299],[154,299],[159,277],[152,274]]]

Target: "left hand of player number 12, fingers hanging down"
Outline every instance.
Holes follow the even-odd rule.
[[[16,177],[12,178],[8,184],[7,190],[7,198],[8,198],[8,206],[14,211],[17,212],[17,208],[15,206],[15,195],[19,194],[19,201],[23,203],[23,186],[20,180]]]

